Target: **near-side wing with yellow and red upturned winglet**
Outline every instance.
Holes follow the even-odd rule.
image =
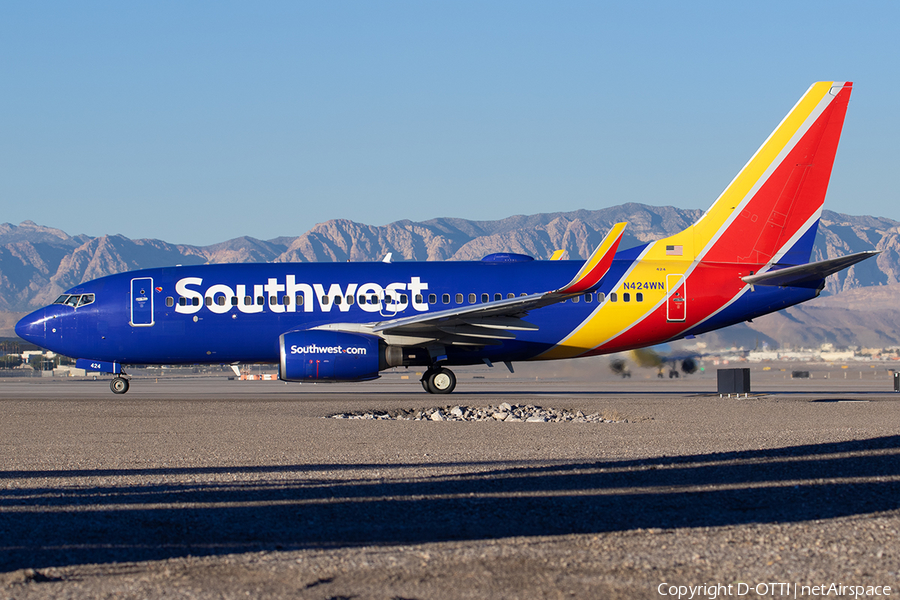
[[[557,290],[363,325],[334,323],[320,329],[365,331],[383,337],[403,338],[402,343],[409,345],[438,342],[487,346],[514,339],[516,331],[538,329],[537,325],[523,319],[529,311],[563,302],[597,287],[612,266],[625,225],[617,223],[575,277]]]

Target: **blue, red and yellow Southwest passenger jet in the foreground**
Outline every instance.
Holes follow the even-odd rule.
[[[366,381],[423,367],[446,394],[457,365],[644,348],[819,295],[877,252],[809,262],[851,82],[813,84],[701,218],[586,261],[497,253],[481,261],[208,264],[77,285],[16,325],[22,339],[113,375],[123,365],[278,363],[289,382]],[[561,256],[554,256],[561,258]]]

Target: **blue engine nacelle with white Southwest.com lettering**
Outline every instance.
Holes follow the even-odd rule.
[[[279,338],[284,381],[362,381],[387,368],[380,338],[341,331],[291,331]]]

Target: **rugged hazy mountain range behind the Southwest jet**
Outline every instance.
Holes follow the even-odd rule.
[[[118,234],[71,236],[32,221],[5,223],[0,225],[0,336],[13,335],[20,316],[52,302],[64,290],[128,270],[224,262],[375,261],[388,252],[394,261],[479,260],[492,252],[546,259],[564,249],[569,258],[579,259],[590,254],[614,223],[628,222],[620,246],[628,248],[677,233],[702,212],[630,203],[497,221],[438,218],[374,226],[336,219],[297,237],[239,237],[210,246],[132,240]],[[823,212],[813,260],[863,250],[881,254],[829,277],[822,297],[753,324],[707,335],[720,345],[754,340],[770,346],[900,344],[900,309],[893,308],[897,304],[893,298],[900,292],[900,222]],[[830,322],[835,327],[829,327]]]

